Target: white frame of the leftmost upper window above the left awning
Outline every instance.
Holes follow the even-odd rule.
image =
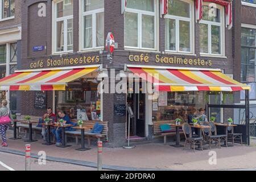
[[[57,18],[57,3],[63,2],[64,0],[55,0],[52,1],[52,53],[53,54],[61,54],[61,53],[66,53],[66,52],[73,52],[72,50],[67,50],[68,47],[68,20],[72,19],[73,20],[73,15],[69,15],[69,16],[63,16],[61,18]],[[57,22],[61,22],[63,21],[64,24],[64,51],[57,51]],[[73,26],[74,27],[74,26]],[[73,28],[73,32],[74,32],[74,28]],[[74,43],[73,43],[74,46]]]

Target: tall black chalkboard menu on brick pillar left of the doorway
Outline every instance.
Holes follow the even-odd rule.
[[[126,122],[126,94],[114,96],[114,123]]]

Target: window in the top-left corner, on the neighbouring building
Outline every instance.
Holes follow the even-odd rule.
[[[15,4],[14,0],[0,0],[0,19],[14,16]]]

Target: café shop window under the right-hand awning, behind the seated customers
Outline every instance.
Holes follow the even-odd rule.
[[[180,118],[187,122],[193,108],[205,109],[205,95],[205,92],[159,92],[158,99],[152,101],[152,121]]]

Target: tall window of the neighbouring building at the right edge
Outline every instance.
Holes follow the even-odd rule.
[[[255,82],[256,82],[256,30],[243,28],[241,30],[241,82],[251,85],[250,99],[256,100]],[[241,92],[242,93],[242,92]],[[242,99],[244,93],[242,93]]]

